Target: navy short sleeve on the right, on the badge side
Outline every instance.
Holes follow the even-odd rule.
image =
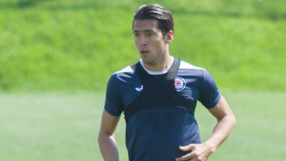
[[[221,93],[217,88],[217,84],[215,83],[214,78],[206,70],[202,70],[201,90],[202,94],[198,100],[206,108],[213,108],[219,103],[219,100],[221,99]]]

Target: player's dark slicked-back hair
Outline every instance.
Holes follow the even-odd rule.
[[[134,20],[132,23],[132,29],[134,22],[136,20],[144,20],[144,19],[156,19],[158,20],[158,28],[162,31],[163,36],[172,30],[174,31],[174,19],[171,15],[171,12],[157,4],[153,5],[142,5],[134,14]]]

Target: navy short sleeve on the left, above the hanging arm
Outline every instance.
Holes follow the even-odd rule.
[[[123,112],[118,80],[112,75],[108,81],[104,109],[112,116],[120,116]]]

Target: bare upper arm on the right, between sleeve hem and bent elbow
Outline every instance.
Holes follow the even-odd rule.
[[[208,109],[208,111],[217,118],[217,120],[221,120],[226,115],[233,115],[233,112],[229,108],[229,105],[227,104],[227,101],[223,96],[221,96],[221,99],[219,100],[219,103],[213,107]]]

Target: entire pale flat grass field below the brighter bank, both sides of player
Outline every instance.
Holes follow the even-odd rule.
[[[209,161],[285,161],[286,93],[223,92],[237,124]],[[0,94],[1,161],[100,161],[97,143],[103,93]],[[196,119],[206,140],[215,119],[200,104]],[[116,140],[128,160],[122,117]]]

